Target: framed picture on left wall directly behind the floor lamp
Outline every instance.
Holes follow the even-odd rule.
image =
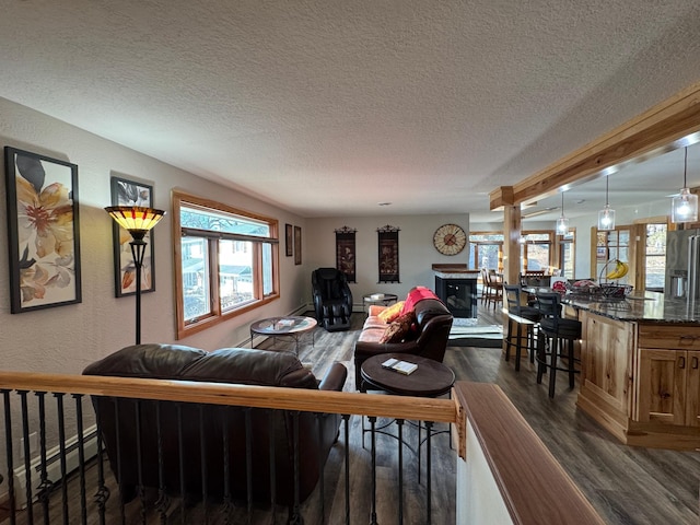
[[[113,206],[144,206],[153,208],[153,186],[127,180],[126,178],[112,177],[112,205]],[[131,255],[131,234],[115,221],[112,224],[112,238],[114,249],[114,276],[115,295],[122,298],[136,293],[136,266]],[[149,231],[143,237],[148,243],[143,255],[143,268],[141,269],[141,292],[155,290],[155,272],[153,261],[155,249],[153,232]]]

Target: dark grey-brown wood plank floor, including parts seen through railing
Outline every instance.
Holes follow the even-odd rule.
[[[352,350],[359,329],[365,315],[353,314],[353,326],[349,331],[327,332],[323,328],[314,331],[314,343],[311,337],[303,337],[300,341],[300,359],[308,363],[317,377],[322,377],[334,361],[345,363],[349,369],[346,390],[354,390]],[[479,324],[500,324],[500,315],[493,308],[481,308]],[[290,342],[268,339],[259,348],[287,350]],[[697,452],[674,452],[649,450],[621,445],[617,440],[603,430],[596,422],[586,417],[575,407],[576,389],[569,390],[568,382],[560,381],[553,399],[547,395],[546,384],[536,383],[535,370],[527,360],[523,360],[521,371],[516,373],[513,361],[503,360],[500,348],[457,347],[451,346],[445,355],[445,363],[454,371],[458,381],[489,382],[498,384],[512,402],[523,413],[535,432],[544,441],[553,456],[569,472],[582,492],[588,498],[599,514],[609,524],[698,524],[699,488],[700,488],[700,454]],[[358,432],[360,418],[352,418],[350,427],[354,438],[351,438],[352,479],[351,523],[366,523],[369,515],[369,452],[362,447],[362,433]],[[442,448],[444,455],[435,457],[434,471],[439,475],[433,479],[432,505],[435,511],[432,523],[455,523],[454,470],[456,457],[454,451],[447,446],[447,436]],[[377,446],[377,483],[380,486],[378,513],[386,517],[384,508],[395,505],[397,499],[395,462],[392,454],[396,447],[393,440],[381,438]],[[326,515],[332,511],[334,515],[343,516],[345,469],[342,467],[342,446],[337,446],[326,468],[326,491],[324,501]],[[419,490],[407,490],[405,522],[406,524],[425,523],[424,495],[421,495],[417,483],[416,464],[407,462],[409,468],[407,486],[418,487]],[[547,494],[537,494],[546,499]],[[312,495],[304,505],[311,516],[319,508],[319,494]],[[197,512],[201,509],[188,510],[187,522],[199,522]],[[130,510],[138,516],[138,508]],[[179,509],[174,505],[168,523],[180,523]],[[243,517],[234,516],[233,523]],[[260,521],[253,523],[284,523],[285,512],[282,510],[275,521],[269,514],[262,513]],[[0,514],[0,524],[4,525]],[[19,523],[24,523],[22,520]],[[91,521],[91,523],[94,523]],[[109,523],[109,522],[108,522]],[[130,522],[128,522],[130,523]],[[215,520],[210,523],[218,523]],[[314,517],[306,523],[320,523]],[[328,523],[345,523],[343,518],[332,518]],[[394,523],[394,517],[380,520],[380,523]]]

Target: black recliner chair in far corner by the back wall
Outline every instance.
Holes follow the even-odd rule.
[[[346,275],[336,268],[318,268],[311,275],[316,320],[328,331],[350,328],[352,292]]]

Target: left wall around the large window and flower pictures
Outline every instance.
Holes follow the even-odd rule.
[[[82,303],[14,315],[10,314],[8,257],[0,257],[3,370],[80,373],[89,363],[133,343],[135,298],[115,298],[112,219],[103,210],[110,205],[112,175],[152,183],[154,205],[168,212],[154,230],[156,290],[142,296],[143,342],[175,342],[172,188],[276,218],[282,240],[285,223],[306,230],[300,217],[2,98],[0,142],[78,165],[82,252]],[[0,217],[4,218],[4,177],[0,184]],[[0,228],[0,243],[8,245],[5,226]],[[249,337],[252,320],[298,308],[306,300],[304,278],[310,266],[294,266],[293,258],[284,256],[283,241],[280,248],[280,300],[177,342],[207,350],[236,346]]]

